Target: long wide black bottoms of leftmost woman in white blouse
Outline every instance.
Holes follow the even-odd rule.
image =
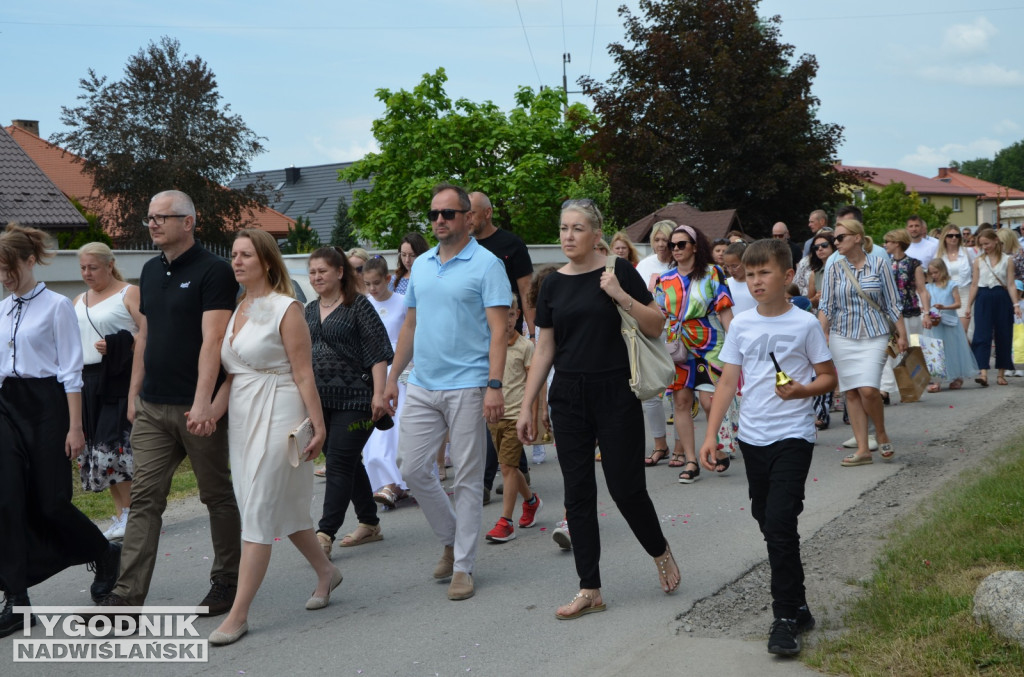
[[[0,387],[0,586],[25,592],[98,559],[106,539],[72,502],[68,396],[55,378]]]

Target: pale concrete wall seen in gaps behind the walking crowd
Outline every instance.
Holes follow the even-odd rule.
[[[642,256],[646,256],[650,247],[638,246],[638,249]],[[374,251],[371,254],[383,256],[387,260],[388,267],[392,270],[398,263],[397,252],[393,249]],[[125,280],[132,283],[138,282],[142,265],[157,255],[158,252],[154,251],[114,252],[118,268]],[[561,265],[566,260],[558,245],[530,245],[529,256],[534,261],[535,269],[550,264]],[[305,274],[308,259],[307,254],[287,254],[285,263],[292,277],[301,277]],[[48,265],[36,266],[36,280],[45,282],[49,289],[69,298],[74,298],[85,291],[85,283],[82,282],[82,277],[79,273],[78,252],[75,251],[59,251]]]

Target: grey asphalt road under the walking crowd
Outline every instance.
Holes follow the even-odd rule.
[[[897,446],[893,463],[841,468],[838,447],[850,428],[834,421],[820,433],[801,517],[804,538],[855,505],[892,473],[901,460],[926,453],[922,440],[954,434],[970,417],[1000,408],[1019,395],[1011,387],[926,395],[886,409]],[[702,425],[697,426],[697,438]],[[251,632],[237,644],[211,647],[205,664],[12,663],[12,639],[0,640],[2,674],[20,675],[620,675],[670,670],[673,674],[762,676],[801,674],[792,661],[769,657],[763,641],[695,639],[678,632],[677,617],[695,601],[735,581],[765,559],[749,514],[742,462],[723,476],[703,472],[691,485],[663,462],[647,471],[648,486],[683,575],[680,589],[665,595],[652,560],[633,539],[601,486],[602,594],[608,610],[563,622],[556,606],[575,593],[571,554],[552,542],[561,518],[561,476],[551,447],[548,462],[532,469],[545,501],[540,524],[520,530],[507,544],[481,543],[476,595],[452,602],[446,583],[431,572],[440,546],[415,504],[382,515],[384,540],[336,549],[345,580],[331,605],[306,611],[314,585],[311,570],[286,541],[274,548],[251,616]],[[879,459],[877,459],[879,461]],[[600,475],[599,475],[600,477]],[[324,482],[316,480],[317,500]],[[500,514],[484,508],[485,533]],[[318,515],[317,515],[318,516]],[[516,515],[518,517],[518,513]],[[354,523],[349,513],[346,520]],[[348,531],[348,530],[345,530]],[[345,532],[343,532],[345,533]],[[174,506],[165,522],[148,604],[196,604],[208,588],[211,545],[208,519],[198,500]],[[91,575],[63,572],[34,588],[34,604],[87,604]],[[810,600],[813,607],[813,600]],[[205,637],[219,624],[202,619]],[[767,633],[767,628],[765,628]],[[37,633],[33,636],[37,636]],[[813,674],[811,671],[806,671]]]

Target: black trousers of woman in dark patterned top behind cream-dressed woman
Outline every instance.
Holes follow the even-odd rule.
[[[364,524],[377,524],[377,503],[370,486],[367,468],[362,465],[362,448],[374,427],[370,412],[325,409],[327,421],[327,486],[324,491],[324,515],[317,532],[334,538],[345,521],[351,502],[355,516]]]

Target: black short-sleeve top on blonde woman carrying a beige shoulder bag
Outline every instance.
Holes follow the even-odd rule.
[[[615,302],[601,289],[604,267],[583,274],[553,272],[537,298],[537,326],[555,333],[555,371],[598,374],[629,370]],[[615,259],[615,277],[635,303],[654,300],[626,259]],[[627,304],[628,305],[628,304]]]

